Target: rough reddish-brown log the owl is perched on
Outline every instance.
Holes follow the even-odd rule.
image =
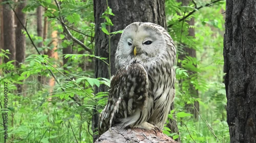
[[[117,127],[112,127],[112,132],[105,132],[100,136],[95,143],[177,143],[172,138],[167,137],[162,132],[157,132],[157,135],[153,131],[144,131],[139,128],[132,128],[127,130],[118,130]]]

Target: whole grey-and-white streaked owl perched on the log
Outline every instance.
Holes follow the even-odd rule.
[[[99,118],[99,136],[119,128],[162,130],[175,97],[176,49],[168,32],[154,23],[134,22],[119,40],[118,69]]]

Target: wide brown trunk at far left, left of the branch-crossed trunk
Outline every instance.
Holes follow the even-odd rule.
[[[3,2],[6,2],[4,0]],[[8,4],[3,5],[3,33],[4,33],[4,50],[9,50],[11,54],[8,54],[9,59],[4,58],[4,62],[7,63],[11,60],[15,60],[15,32],[14,32],[14,18],[13,11],[9,8]],[[13,62],[15,65],[15,62]]]

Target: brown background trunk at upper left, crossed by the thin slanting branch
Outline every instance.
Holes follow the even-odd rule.
[[[21,1],[19,1],[21,2]],[[18,18],[20,19],[20,21],[25,25],[26,23],[26,15],[25,13],[22,12],[22,9],[26,6],[26,1],[22,1],[21,3],[19,3],[19,5],[17,6],[16,9],[16,13],[18,15]],[[20,63],[23,63],[25,60],[25,47],[26,47],[26,37],[25,34],[22,33],[22,30],[24,30],[22,24],[16,20],[17,23],[17,27],[15,30],[15,34],[16,34],[16,66],[19,67]],[[21,81],[22,82],[22,81]],[[22,93],[22,84],[17,84],[17,90],[18,93]]]

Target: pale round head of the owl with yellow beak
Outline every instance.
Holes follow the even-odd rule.
[[[116,68],[134,62],[143,65],[157,63],[166,53],[167,40],[172,41],[166,33],[162,26],[154,23],[134,22],[128,25],[121,35],[116,50]]]

